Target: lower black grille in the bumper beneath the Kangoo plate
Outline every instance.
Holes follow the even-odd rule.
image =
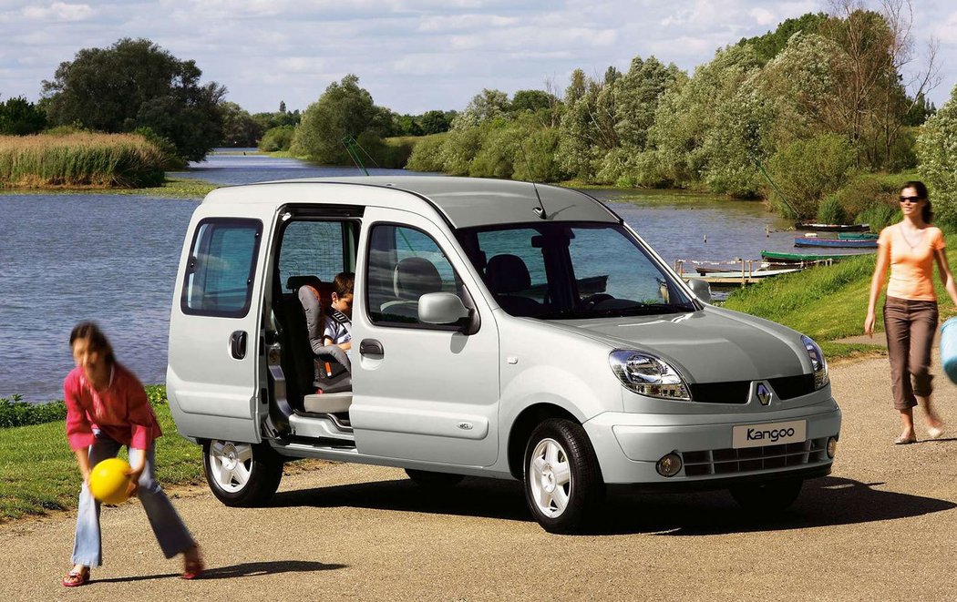
[[[741,449],[705,449],[681,452],[687,477],[729,475],[771,468],[802,466],[825,462],[827,438],[809,439],[781,445],[744,447]]]

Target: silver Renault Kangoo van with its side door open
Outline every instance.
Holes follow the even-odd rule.
[[[299,291],[354,272],[349,356],[309,344]],[[219,188],[195,210],[167,394],[226,505],[282,463],[523,481],[552,532],[612,485],[727,488],[781,509],[831,471],[841,414],[817,344],[709,304],[581,192],[365,177]],[[331,352],[330,352],[331,353]]]

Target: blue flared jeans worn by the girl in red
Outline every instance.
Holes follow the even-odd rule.
[[[113,441],[100,432],[95,432],[96,440],[90,447],[90,467],[107,458],[115,458],[122,443]],[[145,451],[145,465],[140,476],[140,488],[137,497],[143,503],[149,526],[153,527],[156,541],[163,554],[172,558],[195,544],[186,525],[180,519],[176,509],[169,503],[167,494],[156,482],[153,472],[155,444],[150,443]],[[102,564],[102,544],[100,542],[100,502],[90,493],[85,482],[79,491],[77,511],[77,538],[73,548],[73,563],[86,567],[99,567]]]

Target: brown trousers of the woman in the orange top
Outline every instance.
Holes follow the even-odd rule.
[[[937,330],[937,302],[887,297],[884,330],[887,332],[887,355],[891,360],[894,407],[906,410],[917,405],[914,396],[923,398],[933,391],[930,348]]]

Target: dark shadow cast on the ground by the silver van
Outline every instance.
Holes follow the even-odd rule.
[[[825,477],[804,484],[797,502],[772,518],[747,513],[726,491],[681,494],[617,490],[598,512],[593,534],[656,533],[716,535],[853,525],[910,518],[949,510],[957,504],[883,489],[883,483],[860,483]],[[522,484],[467,478],[450,488],[425,488],[412,481],[380,481],[299,491],[273,498],[276,507],[354,506],[405,512],[476,516],[531,521]]]

